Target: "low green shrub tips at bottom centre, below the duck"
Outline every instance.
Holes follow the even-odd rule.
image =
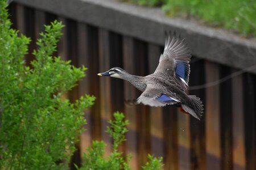
[[[126,126],[129,124],[127,120],[123,120],[125,116],[123,113],[114,113],[114,121],[109,121],[110,127],[107,127],[107,132],[113,138],[113,151],[108,158],[104,158],[106,143],[102,141],[94,141],[92,147],[88,147],[87,153],[84,154],[84,163],[79,170],[118,170],[130,169],[129,162],[131,155],[127,156],[127,161],[123,159],[122,152],[117,150],[118,146],[125,141],[125,133],[127,132]],[[148,155],[148,162],[142,167],[145,170],[158,170],[161,169],[163,164],[162,157],[154,158]]]

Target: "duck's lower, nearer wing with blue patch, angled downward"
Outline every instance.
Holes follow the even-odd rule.
[[[175,93],[165,94],[162,89],[154,84],[147,84],[146,89],[138,97],[137,103],[150,105],[151,107],[164,107],[165,105],[180,103],[179,97]]]

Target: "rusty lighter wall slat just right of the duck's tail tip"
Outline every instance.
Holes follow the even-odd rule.
[[[206,82],[219,79],[219,69],[216,63],[205,62]],[[207,169],[220,169],[220,95],[219,85],[208,87],[205,105],[205,140],[207,151]]]

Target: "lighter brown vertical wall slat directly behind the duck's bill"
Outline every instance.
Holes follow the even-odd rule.
[[[109,70],[110,68],[110,44],[109,44],[109,32],[105,29],[99,29],[99,65],[100,72]],[[112,140],[108,133],[106,133],[106,126],[108,121],[112,118],[111,110],[111,88],[110,78],[100,78],[100,103],[101,103],[101,128],[102,128],[102,139],[107,143],[105,155],[109,155],[111,152]]]

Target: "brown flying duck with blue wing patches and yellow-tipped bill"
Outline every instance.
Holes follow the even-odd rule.
[[[168,33],[164,52],[160,55],[159,64],[153,74],[137,76],[127,73],[119,67],[98,73],[100,76],[112,76],[127,80],[142,91],[137,103],[151,107],[176,105],[181,111],[191,114],[200,120],[203,115],[203,104],[199,97],[187,95],[191,58],[185,39]]]

